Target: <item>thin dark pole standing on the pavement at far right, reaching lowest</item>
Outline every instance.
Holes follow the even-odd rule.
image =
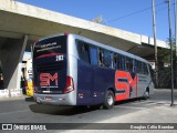
[[[169,23],[169,44],[170,44],[170,76],[171,76],[171,104],[174,106],[174,62],[173,62],[173,42],[171,42],[171,23],[170,23],[170,0],[168,0],[168,23]]]

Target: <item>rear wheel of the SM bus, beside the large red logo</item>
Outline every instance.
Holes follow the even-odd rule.
[[[112,109],[114,106],[114,102],[115,102],[115,99],[114,99],[114,93],[113,91],[108,90],[106,92],[106,96],[105,96],[105,101],[104,101],[104,109]]]

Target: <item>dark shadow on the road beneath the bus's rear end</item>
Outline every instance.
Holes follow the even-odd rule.
[[[96,111],[96,108],[88,106],[54,106],[44,104],[31,104],[30,110],[34,113],[52,114],[52,115],[75,115]]]

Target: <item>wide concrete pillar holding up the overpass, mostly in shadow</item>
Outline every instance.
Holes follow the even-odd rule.
[[[24,35],[20,40],[8,39],[0,49],[4,89],[20,89],[21,62],[27,42],[28,35]]]

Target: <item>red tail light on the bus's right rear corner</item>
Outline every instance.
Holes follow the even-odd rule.
[[[66,76],[66,86],[64,89],[64,94],[74,91],[74,82],[71,76]]]

